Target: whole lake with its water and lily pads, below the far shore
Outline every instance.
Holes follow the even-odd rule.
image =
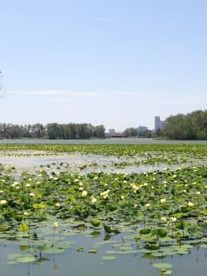
[[[4,149],[0,152],[0,163],[3,164],[0,167],[0,202],[6,199],[8,202],[12,201],[12,204],[0,204],[0,210],[2,218],[5,216],[12,227],[9,226],[5,219],[1,219],[0,264],[3,275],[165,276],[170,274],[170,271],[168,271],[168,274],[161,273],[159,269],[153,266],[155,264],[164,265],[168,263],[172,265],[172,268],[170,268],[172,276],[206,276],[206,226],[199,228],[199,230],[202,229],[201,235],[194,232],[195,228],[191,229],[193,233],[191,236],[188,233],[188,228],[185,230],[177,228],[177,236],[173,236],[173,231],[175,230],[173,230],[173,227],[177,227],[177,222],[174,224],[170,223],[172,215],[168,211],[168,205],[159,205],[159,201],[164,199],[163,197],[168,197],[167,204],[168,202],[170,204],[172,199],[177,204],[177,195],[179,195],[179,201],[184,197],[182,204],[185,204],[185,200],[188,200],[189,197],[190,201],[195,202],[196,206],[195,214],[190,217],[190,224],[198,225],[197,214],[201,221],[206,219],[205,215],[200,217],[201,214],[199,212],[202,210],[202,214],[205,214],[206,190],[204,186],[206,185],[207,187],[205,178],[207,141],[173,141],[173,144],[196,143],[206,145],[175,145],[169,151],[169,146],[166,147],[161,144],[170,144],[171,141],[153,139],[17,139],[1,140],[0,143],[57,144],[59,141],[61,144],[146,144],[143,146],[146,148],[146,155],[144,155],[142,146],[142,150],[139,152],[140,155],[137,152],[137,155],[129,155],[127,157],[122,150],[124,146],[118,145],[119,150],[121,150],[118,152],[121,152],[121,156],[117,157],[112,155],[112,153],[104,156],[90,152],[89,154],[56,152],[54,145],[51,145],[53,152],[43,152],[34,149],[10,151],[11,146],[6,145],[8,150]],[[159,148],[157,150],[157,145],[151,145],[152,149],[155,148],[155,152],[154,155],[152,154],[153,151],[149,155],[147,144],[160,144],[160,146],[158,145]],[[50,147],[50,145],[48,146]],[[2,147],[5,148],[4,146]],[[16,146],[13,145],[13,147]],[[30,148],[30,145],[27,147]],[[61,147],[64,146],[62,145]],[[72,147],[72,145],[66,146],[66,148],[68,147]],[[81,147],[81,145],[78,147]],[[88,148],[88,146],[83,147]],[[96,147],[102,148],[101,145]],[[103,147],[103,153],[106,148],[110,148],[109,146]],[[130,148],[133,150],[130,145],[126,145],[126,147],[129,147],[128,150]],[[137,145],[134,147],[140,148]],[[166,150],[161,152],[161,148],[164,147],[166,147]],[[115,148],[115,145],[112,148]],[[136,163],[137,161],[140,163]],[[145,161],[146,164],[144,163]],[[15,168],[12,168],[12,166],[15,166]],[[23,173],[21,170],[23,170]],[[114,181],[117,181],[117,184]],[[173,193],[171,193],[171,189],[164,188],[163,184],[167,182],[169,182],[171,188],[173,187]],[[90,188],[87,188],[89,184]],[[135,186],[136,188],[135,184],[141,184],[140,189],[142,189],[142,192],[140,195],[144,195],[144,197],[140,199],[139,207],[135,207],[134,210],[135,205],[133,203],[130,205],[130,201],[137,204],[139,202],[139,193],[130,187]],[[68,185],[68,193],[65,193],[64,190],[66,185]],[[106,189],[104,188],[105,185]],[[120,185],[119,188],[117,188],[117,185]],[[88,189],[88,204],[84,203],[86,199],[81,196],[80,188],[82,186]],[[197,186],[197,190],[195,190],[195,186]],[[149,187],[154,190],[153,193]],[[181,193],[181,189],[184,187],[186,195]],[[104,197],[102,199],[100,195],[101,192],[106,193],[107,189],[112,194],[111,198],[115,197],[117,199],[119,197],[119,201],[117,201],[119,209],[110,210],[109,212],[110,204],[104,203],[106,205],[104,212],[106,213],[102,213],[102,208],[105,205],[103,204]],[[129,189],[131,189],[130,193],[128,192]],[[160,189],[161,192],[159,192]],[[199,193],[196,194],[196,192]],[[80,213],[83,213],[83,210],[88,208],[86,206],[90,206],[90,200],[92,199],[91,195],[89,195],[90,193],[95,194],[98,200],[102,202],[102,205],[97,205],[96,207],[100,209],[97,219],[101,221],[101,226],[93,227],[92,217],[90,216],[81,217],[81,215],[76,213],[68,215],[70,212],[68,205],[70,204],[68,203],[70,196],[73,196],[73,199],[71,198],[72,204],[77,204],[75,205],[77,208],[81,206]],[[65,197],[67,197],[66,201]],[[126,197],[128,197],[128,201],[125,202]],[[55,205],[56,207],[53,208],[49,199],[55,200],[54,202],[57,202],[57,204],[60,202],[61,209],[59,209],[59,205]],[[155,213],[153,213],[153,210],[148,210],[147,207],[144,207],[148,201],[155,207]],[[47,205],[38,206],[41,202]],[[28,204],[33,205],[28,206]],[[45,207],[47,217],[44,217],[43,209]],[[173,204],[170,208],[177,214],[177,221],[179,221],[179,216],[182,214],[175,210]],[[30,213],[30,210],[35,213],[33,219],[30,219],[30,216],[22,217],[25,211]],[[76,211],[77,209],[74,208],[72,210]],[[137,215],[132,213],[132,210],[138,212]],[[94,209],[90,209],[90,211],[94,211]],[[144,217],[139,217],[141,216],[139,214],[140,211],[141,214],[144,214]],[[148,212],[149,215],[147,214]],[[161,212],[161,215],[159,212]],[[186,210],[184,210],[185,213]],[[189,212],[188,215],[190,216],[190,214]],[[164,215],[168,218],[169,224],[166,222],[164,224],[160,223],[160,218]],[[41,216],[43,216],[43,219],[41,219]],[[155,222],[152,221],[152,217],[155,217]],[[188,216],[186,215],[186,217]],[[185,220],[186,217],[184,215],[180,221]],[[55,221],[58,221],[59,224],[57,228],[53,228]],[[21,224],[26,224],[30,227],[30,237],[27,231],[19,230]],[[110,231],[107,232],[103,227],[105,224],[111,227],[112,233],[109,233]],[[140,240],[137,242],[136,237],[139,237],[141,229],[153,229],[155,224],[157,224],[156,228],[161,228],[162,231],[167,229],[169,235],[167,237],[159,237],[159,248],[149,249],[151,247],[148,246],[154,244],[154,240],[151,237],[141,234],[144,242]],[[168,227],[169,225],[170,227]],[[117,230],[117,233],[113,232],[115,230]],[[36,236],[34,238],[34,233],[37,234],[37,238]],[[52,242],[53,237],[55,237],[55,246],[53,246]],[[45,247],[43,246],[44,243],[46,244]],[[30,254],[28,257],[29,262],[27,262],[28,254]]]

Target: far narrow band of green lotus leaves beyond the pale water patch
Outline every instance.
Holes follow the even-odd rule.
[[[178,157],[190,157],[193,159],[206,159],[206,144],[0,144],[0,151],[35,150],[56,155],[59,153],[94,154],[117,157],[157,157],[162,161],[177,159]],[[152,161],[152,160],[151,160]]]

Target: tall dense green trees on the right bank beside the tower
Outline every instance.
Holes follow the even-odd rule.
[[[168,139],[206,140],[207,110],[197,110],[187,115],[170,116],[164,121],[162,135]]]

